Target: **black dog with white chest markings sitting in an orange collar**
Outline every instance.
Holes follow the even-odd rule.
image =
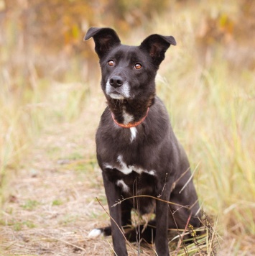
[[[91,37],[108,103],[96,145],[112,217],[111,227],[94,229],[91,235],[111,234],[116,255],[127,255],[121,226],[131,224],[131,209],[141,214],[154,212],[151,223],[156,226],[157,255],[169,255],[167,229],[185,229],[187,222],[193,227],[200,224],[187,156],[172,131],[164,104],[155,96],[159,64],[168,47],[176,45],[175,38],[155,34],[139,46],[128,46],[121,45],[113,29],[97,27],[88,30],[85,40]],[[116,204],[142,195],[147,196],[139,197],[138,206],[132,199]]]

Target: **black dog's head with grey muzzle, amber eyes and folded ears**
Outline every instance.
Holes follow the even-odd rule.
[[[176,45],[172,36],[150,35],[139,46],[121,45],[111,28],[91,27],[85,40],[93,37],[100,59],[101,86],[106,99],[147,99],[155,93],[154,78],[164,52]]]

